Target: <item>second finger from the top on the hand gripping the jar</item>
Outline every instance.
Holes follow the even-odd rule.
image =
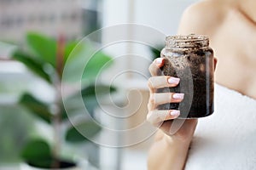
[[[150,77],[148,79],[148,88],[151,93],[154,93],[157,88],[173,88],[176,87],[180,79],[177,77],[160,76]]]

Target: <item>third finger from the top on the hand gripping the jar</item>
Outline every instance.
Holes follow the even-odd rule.
[[[184,94],[174,94],[174,93],[160,93],[160,94],[150,94],[148,101],[148,110],[154,110],[158,105],[167,103],[179,103],[183,100]]]

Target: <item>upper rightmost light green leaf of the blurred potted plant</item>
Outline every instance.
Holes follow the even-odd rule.
[[[98,52],[92,56],[84,68],[83,79],[95,80],[98,74],[113,63],[113,60],[107,54]]]

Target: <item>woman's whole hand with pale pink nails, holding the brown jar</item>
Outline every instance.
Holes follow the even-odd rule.
[[[149,71],[152,75],[148,79],[148,88],[150,91],[150,98],[148,101],[148,122],[155,127],[159,127],[166,135],[166,139],[172,141],[177,140],[189,144],[197,124],[197,119],[177,120],[183,125],[177,132],[171,131],[173,119],[180,115],[176,110],[158,110],[158,105],[167,103],[179,103],[183,100],[184,94],[173,93],[157,93],[158,88],[173,88],[179,83],[179,78],[161,76],[160,67],[164,65],[165,59],[158,58],[149,66]]]

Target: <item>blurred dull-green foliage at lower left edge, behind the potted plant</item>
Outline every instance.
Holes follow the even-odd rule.
[[[20,161],[20,150],[32,133],[34,123],[26,111],[18,105],[0,104],[1,163]]]

